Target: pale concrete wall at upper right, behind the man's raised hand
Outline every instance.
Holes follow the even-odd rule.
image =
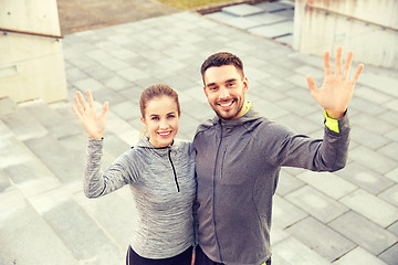
[[[296,0],[294,49],[321,55],[337,45],[356,61],[398,70],[398,1]]]

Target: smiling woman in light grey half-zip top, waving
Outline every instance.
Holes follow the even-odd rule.
[[[97,198],[129,184],[136,202],[139,225],[126,264],[191,264],[195,150],[191,142],[175,141],[180,117],[177,93],[164,84],[143,92],[139,107],[146,137],[104,172],[101,157],[108,103],[97,114],[90,92],[88,103],[78,92],[74,102],[72,110],[88,134],[86,197]]]

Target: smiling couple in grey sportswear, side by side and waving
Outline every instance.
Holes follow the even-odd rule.
[[[129,184],[136,201],[140,222],[126,263],[271,264],[272,197],[280,168],[334,171],[347,159],[346,110],[363,65],[348,78],[353,52],[343,66],[342,50],[336,50],[334,71],[329,52],[324,53],[321,88],[307,76],[312,96],[325,109],[323,140],[259,115],[245,100],[249,85],[241,60],[216,53],[203,62],[201,75],[217,116],[199,126],[193,142],[174,140],[180,117],[177,93],[153,85],[139,100],[146,137],[102,172],[108,104],[97,114],[91,93],[87,102],[77,93],[72,109],[88,132],[85,194],[96,198]]]

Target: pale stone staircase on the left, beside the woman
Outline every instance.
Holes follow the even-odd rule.
[[[106,137],[104,163],[129,148]],[[0,264],[123,264],[134,202],[84,197],[85,145],[70,103],[0,99]]]

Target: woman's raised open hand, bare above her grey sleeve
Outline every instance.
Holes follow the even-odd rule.
[[[87,91],[88,104],[80,92],[76,93],[76,96],[74,96],[73,99],[76,106],[72,106],[72,110],[83,128],[87,131],[88,137],[102,139],[109,104],[107,102],[104,103],[102,114],[98,114],[95,109],[93,96],[90,91]]]

